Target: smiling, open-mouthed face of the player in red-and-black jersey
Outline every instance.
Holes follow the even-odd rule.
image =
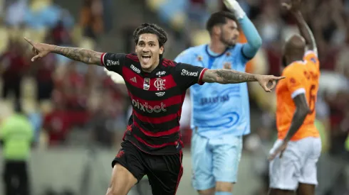
[[[145,33],[140,35],[136,45],[136,53],[140,60],[142,69],[151,72],[159,64],[159,55],[164,52],[164,47],[160,47],[157,35]]]

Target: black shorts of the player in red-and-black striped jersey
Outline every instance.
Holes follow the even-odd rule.
[[[182,150],[174,155],[150,155],[127,140],[121,143],[121,147],[112,162],[112,167],[115,163],[119,163],[131,172],[138,182],[147,175],[152,186],[152,194],[176,194],[183,174]]]

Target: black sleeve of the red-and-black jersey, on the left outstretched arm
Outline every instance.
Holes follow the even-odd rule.
[[[121,75],[121,70],[125,63],[125,54],[120,53],[103,53],[100,62],[109,71],[116,72]]]

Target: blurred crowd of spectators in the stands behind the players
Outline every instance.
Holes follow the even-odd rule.
[[[21,102],[35,128],[37,145],[74,144],[80,138],[74,137],[74,130],[108,148],[122,138],[130,114],[123,84],[114,84],[103,68],[54,54],[33,63],[31,48],[23,40],[28,36],[43,43],[103,50],[108,45],[103,45],[101,38],[117,28],[111,21],[118,13],[113,12],[110,2],[83,0],[76,10],[79,14],[73,16],[52,0],[0,0],[1,118],[11,114],[13,102]],[[160,25],[168,30],[172,42],[169,44],[183,43],[178,47],[181,49],[208,43],[204,24],[210,13],[225,9],[222,1],[217,0],[137,3],[147,5],[143,8],[145,12],[155,13]],[[283,41],[297,33],[293,18],[281,9],[280,0],[239,3],[263,39],[263,46],[248,63],[247,71],[279,75]],[[349,1],[303,0],[302,13],[316,37],[321,61],[316,124],[321,131],[323,153],[349,157]],[[129,40],[132,31],[127,32],[123,35],[125,43],[132,43]],[[242,32],[240,42],[246,42]],[[131,49],[125,44],[123,51],[115,52]],[[167,57],[180,52],[171,51],[167,51]],[[276,138],[276,99],[275,94],[266,94],[259,88],[258,84],[249,84],[253,133],[246,137],[244,149],[256,155],[259,160],[255,168],[266,177],[265,155]],[[187,97],[184,119],[190,116],[189,102]],[[189,121],[181,123],[189,148]]]

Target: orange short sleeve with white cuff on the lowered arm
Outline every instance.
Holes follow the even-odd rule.
[[[290,65],[291,66],[291,65]],[[301,70],[296,69],[295,67],[286,69],[283,72],[283,76],[286,77],[286,84],[288,91],[291,92],[291,98],[295,98],[299,94],[306,93],[306,77],[304,77]]]

